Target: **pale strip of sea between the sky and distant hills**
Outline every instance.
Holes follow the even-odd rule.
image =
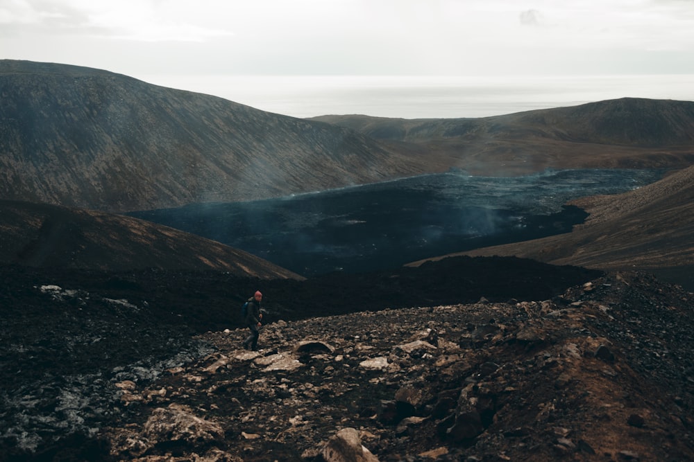
[[[219,96],[294,117],[366,114],[461,118],[623,97],[694,101],[694,75],[437,77],[403,75],[141,75],[164,87]]]

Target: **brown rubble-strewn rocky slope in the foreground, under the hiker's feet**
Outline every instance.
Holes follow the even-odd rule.
[[[362,312],[208,332],[116,384],[115,460],[694,459],[694,294],[613,274],[545,301]]]

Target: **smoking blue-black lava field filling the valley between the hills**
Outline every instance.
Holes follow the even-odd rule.
[[[547,170],[525,177],[423,175],[278,199],[130,213],[248,251],[303,276],[388,269],[571,231],[566,202],[616,194],[660,170]]]

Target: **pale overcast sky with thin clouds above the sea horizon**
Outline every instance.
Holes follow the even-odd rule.
[[[0,58],[251,105],[265,104],[267,87],[253,100],[176,78],[694,75],[694,0],[0,0]]]

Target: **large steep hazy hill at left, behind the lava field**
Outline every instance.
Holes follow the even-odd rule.
[[[0,61],[0,199],[133,211],[425,170],[335,125],[106,71]]]

